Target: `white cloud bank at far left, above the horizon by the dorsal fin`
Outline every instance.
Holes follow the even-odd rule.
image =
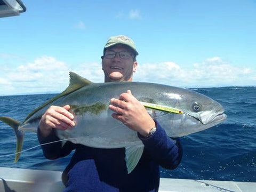
[[[0,95],[56,91],[65,79],[68,82],[66,63],[49,56],[42,56],[16,68],[7,68],[5,66],[5,73],[0,77],[0,86],[5,86],[0,90]],[[67,77],[63,78],[65,74]]]

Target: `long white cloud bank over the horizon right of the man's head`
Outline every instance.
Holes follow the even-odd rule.
[[[256,84],[255,73],[253,69],[235,67],[215,57],[195,63],[191,68],[173,62],[139,65],[134,81],[186,87],[250,86]]]

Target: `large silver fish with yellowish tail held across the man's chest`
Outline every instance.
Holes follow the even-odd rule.
[[[92,83],[70,72],[68,88],[30,113],[23,122],[9,117],[0,120],[9,124],[17,136],[17,162],[22,150],[24,131],[37,131],[38,123],[51,105],[71,106],[76,126],[72,130],[57,130],[63,144],[67,139],[95,148],[125,147],[127,171],[137,165],[143,144],[137,132],[117,121],[108,109],[109,100],[131,90],[148,110],[148,113],[164,128],[169,137],[182,137],[205,130],[226,119],[222,106],[197,92],[178,87],[138,82]]]

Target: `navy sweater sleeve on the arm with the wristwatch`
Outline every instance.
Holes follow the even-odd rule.
[[[165,169],[175,169],[181,162],[182,147],[179,138],[170,138],[156,122],[156,131],[150,137],[138,137],[145,145],[151,158]]]

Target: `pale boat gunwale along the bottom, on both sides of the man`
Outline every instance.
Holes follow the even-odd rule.
[[[2,192],[59,192],[64,188],[60,171],[0,167]],[[209,181],[161,178],[159,192],[252,192],[256,182]]]

